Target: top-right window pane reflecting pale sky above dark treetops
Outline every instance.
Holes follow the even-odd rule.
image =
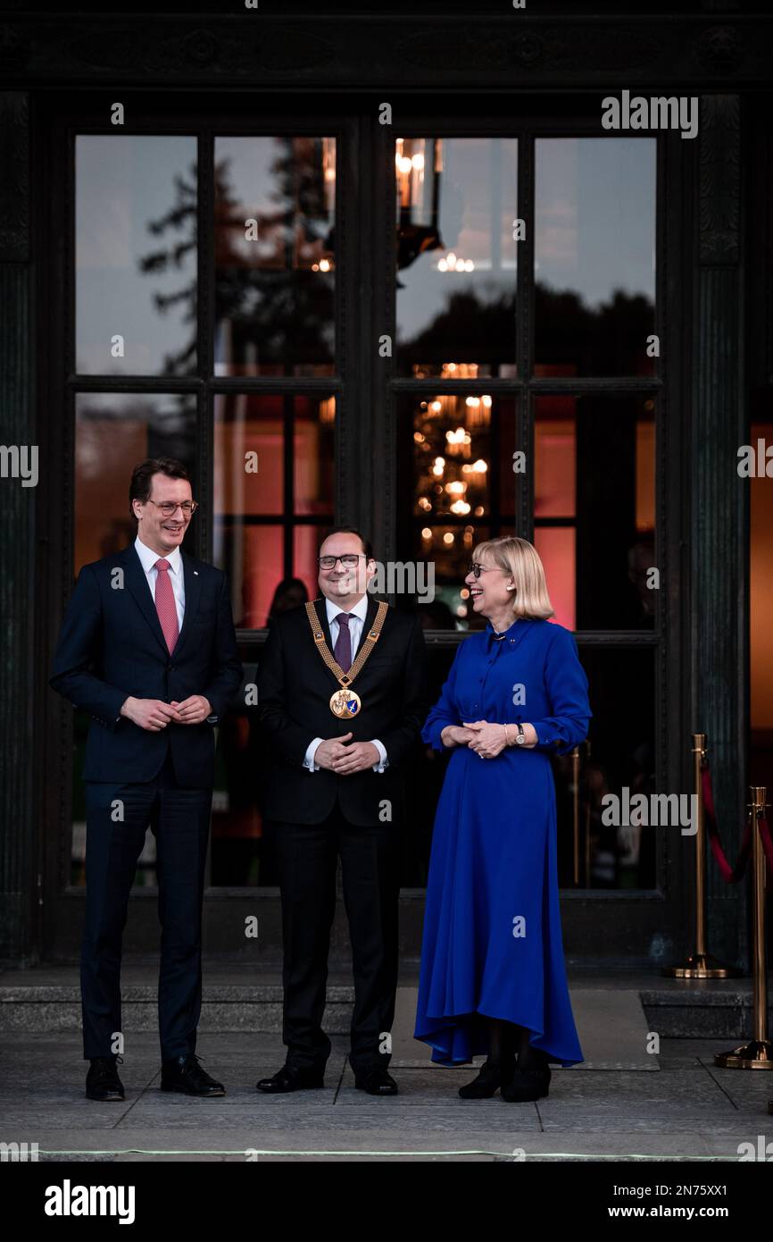
[[[654,374],[656,139],[535,148],[535,374]]]

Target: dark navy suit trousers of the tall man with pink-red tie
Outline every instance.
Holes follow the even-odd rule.
[[[117,1051],[120,951],[129,893],[148,826],[156,838],[161,1058],[194,1052],[201,1012],[201,903],[211,789],[181,789],[168,749],[141,784],[86,782],[86,927],[81,949],[83,1056]]]

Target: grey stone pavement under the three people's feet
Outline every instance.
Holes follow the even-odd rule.
[[[713,1053],[733,1041],[661,1040],[649,1068],[593,1068],[592,1061],[553,1067],[547,1099],[507,1104],[499,1094],[459,1099],[458,1087],[475,1073],[469,1066],[445,1069],[406,1057],[391,1066],[400,1094],[373,1098],[355,1089],[346,1037],[331,1038],[324,1089],[266,1097],[254,1084],[284,1061],[278,1033],[201,1033],[203,1067],[227,1095],[199,1100],[159,1089],[158,1038],[135,1032],[119,1067],[127,1099],[99,1104],[83,1094],[87,1063],[77,1032],[5,1031],[0,1141],[37,1143],[41,1161],[244,1161],[248,1150],[277,1161],[359,1160],[371,1153],[511,1161],[522,1149],[526,1160],[708,1164],[737,1161],[739,1143],[773,1138],[767,1110],[773,1074],[712,1064]]]

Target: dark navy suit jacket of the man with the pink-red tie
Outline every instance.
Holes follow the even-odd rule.
[[[171,746],[181,786],[212,785],[212,725],[236,694],[242,666],[226,575],[185,551],[181,555],[185,616],[171,656],[134,544],[84,565],[78,575],[50,684],[91,713],[87,781],[153,780]],[[168,724],[153,733],[120,715],[129,696],[170,703],[191,694],[203,694],[212,704],[212,715],[202,724]]]

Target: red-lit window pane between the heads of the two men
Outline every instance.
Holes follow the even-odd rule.
[[[316,595],[318,534],[333,523],[334,426],[331,396],[215,399],[213,560],[228,573],[241,628],[303,602],[292,578]],[[309,514],[315,524],[295,527]]]

